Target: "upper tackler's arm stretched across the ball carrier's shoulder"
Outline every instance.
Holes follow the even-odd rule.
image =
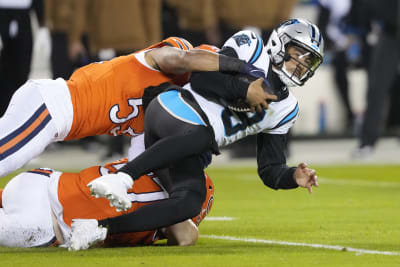
[[[148,64],[164,73],[183,74],[192,71],[233,71],[243,72],[245,61],[202,49],[181,50],[164,46],[146,53]]]

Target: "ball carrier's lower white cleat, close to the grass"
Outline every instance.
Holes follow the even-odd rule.
[[[98,225],[95,219],[73,219],[69,251],[85,250],[104,241],[107,228]]]

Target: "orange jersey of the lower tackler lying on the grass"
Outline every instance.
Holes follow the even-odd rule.
[[[116,217],[138,208],[167,198],[166,192],[160,187],[156,178],[144,176],[135,181],[128,191],[132,199],[132,207],[126,212],[117,212],[110,207],[105,198],[95,198],[90,195],[86,186],[90,181],[106,173],[115,172],[118,165],[127,163],[127,159],[105,166],[94,166],[80,173],[63,173],[58,185],[58,199],[63,207],[63,219],[71,226],[72,219],[97,219]],[[132,246],[152,244],[156,231],[118,234],[107,237],[107,246]]]

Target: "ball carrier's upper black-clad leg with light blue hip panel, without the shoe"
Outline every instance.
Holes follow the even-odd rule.
[[[167,93],[176,91],[169,91]],[[146,109],[146,151],[121,169],[135,180],[150,171],[169,167],[188,156],[212,149],[213,135],[179,95],[154,99]],[[176,108],[176,106],[181,107]],[[182,108],[182,109],[181,109]],[[187,111],[183,111],[187,108]]]

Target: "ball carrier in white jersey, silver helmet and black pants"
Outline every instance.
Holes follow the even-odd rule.
[[[315,170],[305,163],[287,166],[284,154],[286,134],[299,111],[288,87],[303,85],[321,64],[323,39],[318,28],[301,19],[286,21],[274,30],[265,47],[254,32],[242,31],[225,43],[222,53],[236,55],[264,70],[279,100],[271,102],[262,112],[232,111],[218,101],[221,97],[227,99],[233,92],[222,90],[221,83],[234,81],[232,76],[223,73],[201,73],[183,88],[166,87],[167,91],[153,99],[146,109],[147,150],[116,174],[102,176],[88,186],[92,193],[111,199],[111,204],[119,209],[126,209],[130,202],[126,193],[121,194],[126,191],[124,187],[130,187],[133,180],[149,170],[169,168],[171,177],[167,182],[173,184],[170,198],[134,213],[100,221],[109,232],[158,228],[198,213],[205,197],[202,172],[209,163],[210,151],[218,152],[218,147],[247,135],[257,134],[258,173],[265,185],[273,189],[301,186],[310,193],[313,186],[318,186]],[[214,93],[203,94],[206,87]],[[141,218],[151,214],[163,216],[144,223]]]

